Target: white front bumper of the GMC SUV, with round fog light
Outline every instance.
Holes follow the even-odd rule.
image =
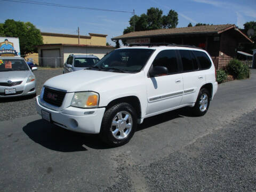
[[[70,131],[81,133],[99,133],[101,121],[105,108],[82,109],[77,107],[67,107],[61,111],[44,107],[40,103],[39,95],[36,97],[36,110],[42,116],[42,110],[51,114],[51,122]],[[93,114],[85,113],[94,111]]]

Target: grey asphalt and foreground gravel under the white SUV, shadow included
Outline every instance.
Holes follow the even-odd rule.
[[[0,191],[256,191],[255,98],[252,70],[219,85],[205,116],[147,118],[118,148],[38,115],[1,121]]]

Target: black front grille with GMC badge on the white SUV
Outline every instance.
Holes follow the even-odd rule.
[[[66,95],[65,92],[57,91],[57,90],[53,90],[45,87],[43,99],[45,102],[53,106],[60,107],[62,105],[65,95]]]

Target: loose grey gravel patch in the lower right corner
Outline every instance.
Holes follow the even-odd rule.
[[[118,182],[106,191],[256,191],[255,113],[146,166],[118,158]]]

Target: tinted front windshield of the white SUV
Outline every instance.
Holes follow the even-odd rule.
[[[94,67],[98,70],[116,70],[117,72],[139,72],[148,61],[153,49],[119,49],[103,57]]]

